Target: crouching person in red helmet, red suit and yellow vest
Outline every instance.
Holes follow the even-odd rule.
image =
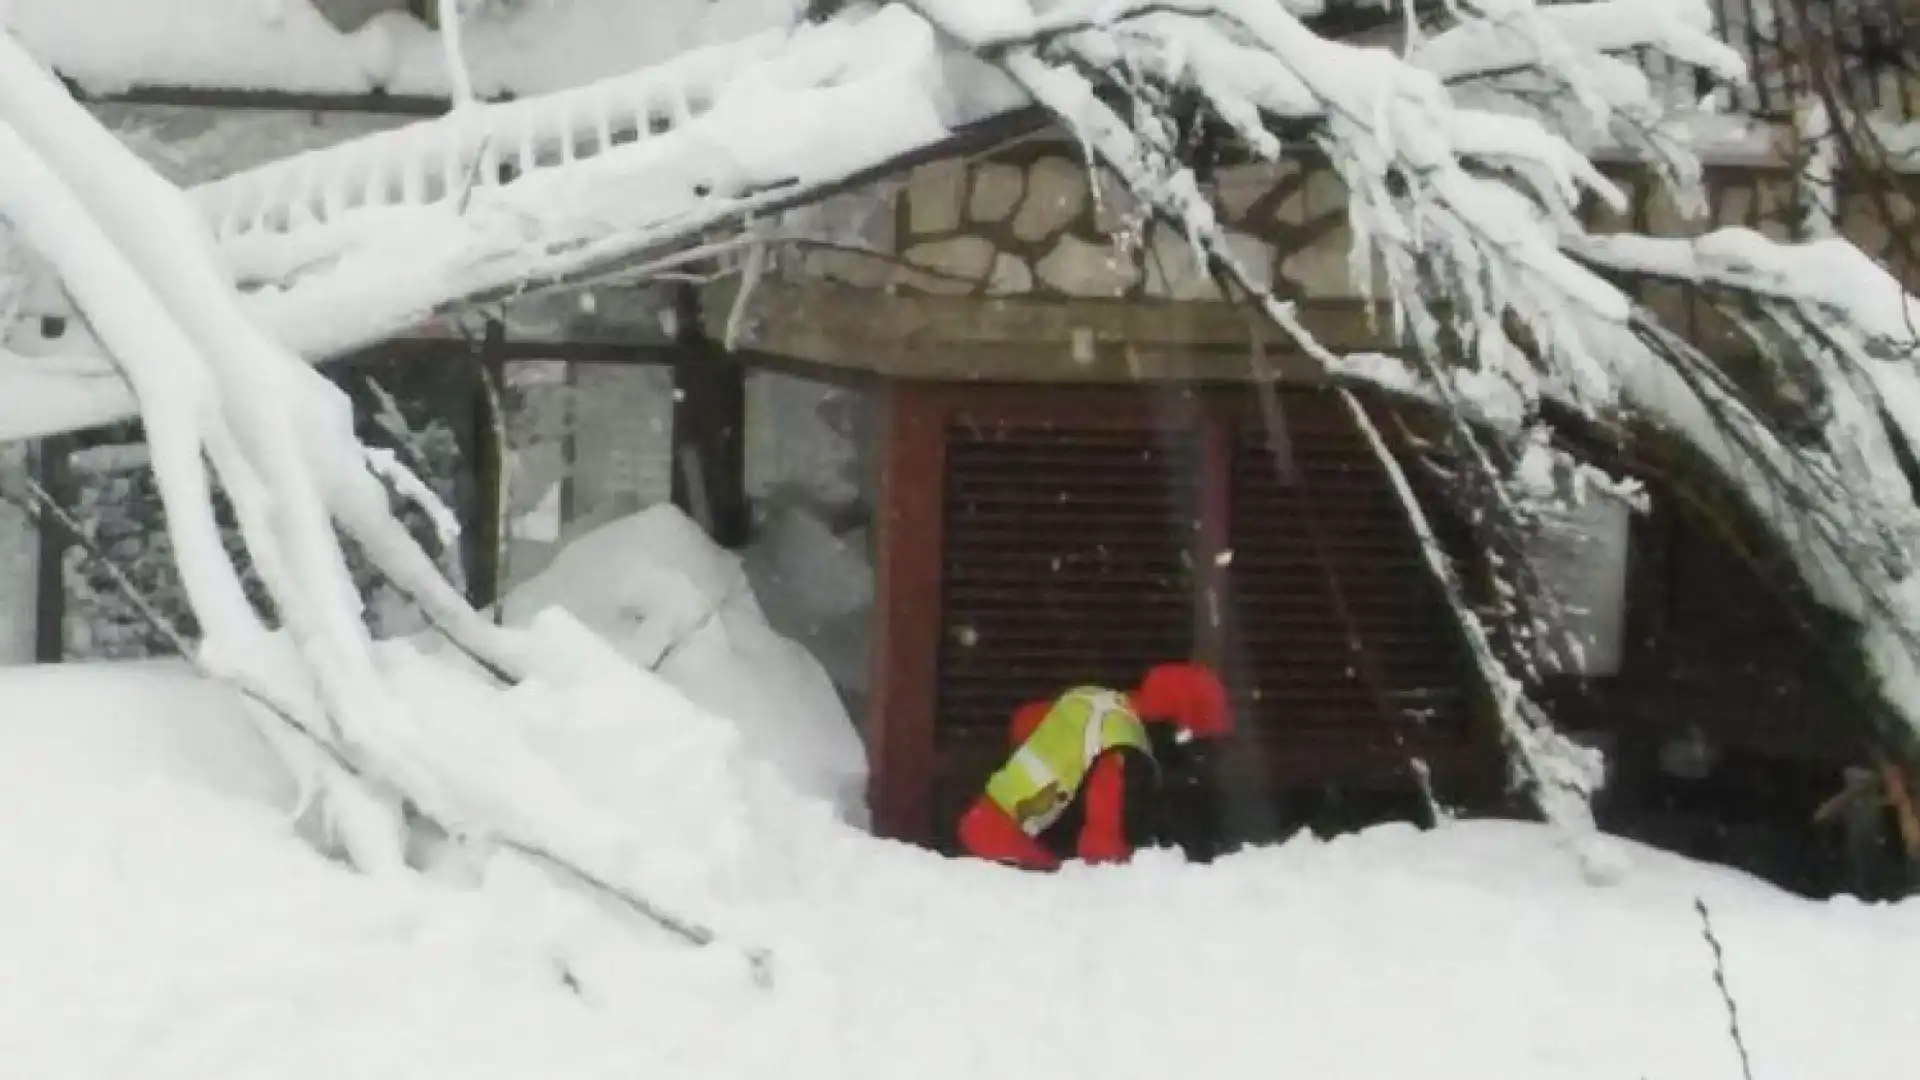
[[[1156,665],[1129,692],[1079,686],[1021,705],[1012,757],[960,815],[960,849],[1029,871],[1058,869],[1069,853],[1123,863],[1142,840],[1164,759],[1229,730],[1227,692],[1198,663]]]

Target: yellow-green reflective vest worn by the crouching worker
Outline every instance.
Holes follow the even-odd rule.
[[[987,780],[987,798],[1021,832],[1039,836],[1073,803],[1094,759],[1116,748],[1133,748],[1152,757],[1146,726],[1127,700],[1092,686],[1068,690]]]

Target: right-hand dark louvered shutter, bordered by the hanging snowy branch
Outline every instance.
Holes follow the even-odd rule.
[[[1442,776],[1488,769],[1459,630],[1390,479],[1329,394],[1286,392],[1281,415],[1279,454],[1260,415],[1236,423],[1227,528],[1227,671],[1260,767],[1363,788],[1404,788],[1409,755]]]

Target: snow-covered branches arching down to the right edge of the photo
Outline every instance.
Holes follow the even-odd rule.
[[[1920,505],[1907,469],[1920,446],[1920,300],[1837,238],[1786,244],[1726,229],[1572,248],[1724,300],[1778,380],[1809,382],[1811,415],[1784,423],[1684,342],[1645,323],[1622,342],[1636,359],[1624,380],[1636,409],[1703,452],[1814,598],[1859,623],[1882,705],[1910,728],[1895,734],[1920,742]]]

